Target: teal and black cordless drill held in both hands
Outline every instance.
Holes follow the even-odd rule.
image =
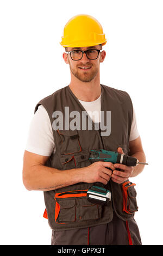
[[[138,164],[148,164],[139,162],[135,157],[123,155],[118,152],[104,149],[91,150],[89,160],[91,162],[103,161],[111,163],[121,163],[126,166],[137,166]],[[110,169],[109,167],[106,167]],[[116,170],[120,170],[116,168]],[[92,203],[107,205],[111,200],[111,192],[103,187],[103,184],[92,186],[87,191],[87,199]]]

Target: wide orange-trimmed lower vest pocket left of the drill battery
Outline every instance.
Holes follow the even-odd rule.
[[[68,224],[101,218],[102,206],[87,200],[87,190],[55,194],[55,222]]]

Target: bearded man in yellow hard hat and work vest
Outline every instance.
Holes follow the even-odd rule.
[[[28,190],[44,191],[52,245],[141,245],[134,220],[136,191],[129,178],[143,166],[89,160],[92,149],[105,149],[146,161],[129,95],[100,84],[105,44],[102,26],[92,16],[67,22],[61,45],[71,82],[37,103],[30,125],[23,182]],[[85,114],[92,129],[83,125]],[[87,200],[96,182],[111,191],[109,204]]]

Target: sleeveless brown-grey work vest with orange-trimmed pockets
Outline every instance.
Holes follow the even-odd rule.
[[[117,148],[121,147],[124,154],[128,154],[133,120],[133,105],[130,96],[122,90],[102,84],[101,89],[101,111],[104,113],[111,111],[111,133],[109,136],[101,136],[101,131],[95,129],[94,123],[92,130],[89,130],[88,127],[86,130],[82,130],[82,128],[67,130],[65,123],[63,130],[53,129],[53,121],[56,119],[53,113],[55,111],[62,112],[63,120],[65,120],[65,107],[67,106],[69,112],[78,111],[80,113],[82,124],[82,111],[85,109],[69,86],[57,90],[37,103],[35,112],[39,105],[46,108],[54,136],[56,151],[49,157],[46,166],[57,168],[60,171],[89,166],[91,164],[89,153],[92,149],[117,151]],[[70,121],[72,119],[70,118]],[[87,117],[87,121],[90,121],[89,117]],[[111,202],[106,206],[87,200],[86,192],[92,185],[80,182],[44,192],[45,213],[47,213],[48,223],[52,229],[68,230],[108,223],[112,220],[113,210],[122,220],[130,220],[134,217],[137,204],[133,184],[124,188],[122,184],[110,180],[105,187],[111,191]]]

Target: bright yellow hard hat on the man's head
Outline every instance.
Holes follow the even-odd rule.
[[[66,23],[60,44],[63,47],[105,45],[106,38],[101,24],[95,18],[80,14]]]

